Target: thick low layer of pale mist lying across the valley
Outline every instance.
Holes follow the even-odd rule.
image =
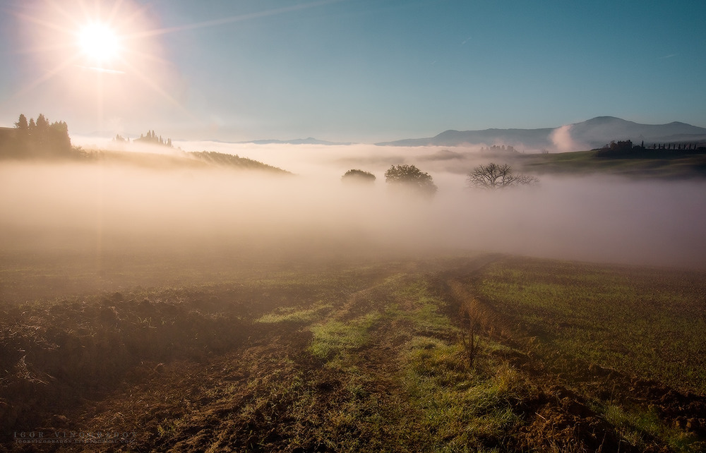
[[[215,265],[481,250],[706,268],[702,181],[543,176],[536,188],[486,192],[467,188],[465,173],[487,159],[436,148],[223,145],[216,151],[297,176],[2,163],[0,265],[11,272],[28,256],[53,254],[61,267],[62,257],[73,254],[100,272],[116,256],[129,266],[133,255],[157,264],[167,263],[165,254],[186,263],[198,255],[213,257]],[[435,198],[388,191],[384,171],[402,163],[433,176]],[[348,169],[371,171],[377,180],[343,184]]]

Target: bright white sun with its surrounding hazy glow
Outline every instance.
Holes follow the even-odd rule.
[[[32,54],[35,61],[28,64],[36,65],[36,75],[23,80],[13,98],[31,96],[46,84],[47,92],[90,109],[99,129],[107,116],[119,118],[128,106],[154,102],[155,97],[189,115],[172,95],[177,78],[175,67],[164,58],[162,36],[210,23],[160,28],[145,5],[151,2],[141,0],[29,3],[13,14],[21,25],[20,52]]]

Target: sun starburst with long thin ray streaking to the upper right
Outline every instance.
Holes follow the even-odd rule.
[[[162,56],[160,40],[155,37],[275,16],[340,1],[343,0],[311,1],[239,16],[158,28],[150,26],[154,25],[150,20],[150,4],[140,5],[132,0],[114,0],[107,6],[98,0],[45,0],[47,8],[44,10],[35,9],[32,14],[24,10],[13,15],[33,25],[37,33],[32,36],[35,44],[32,45],[30,40],[30,45],[25,47],[24,52],[39,55],[41,58],[37,59],[37,63],[41,64],[43,59],[44,64],[51,69],[28,81],[11,98],[26,95],[38,85],[61,75],[66,83],[73,83],[73,88],[81,97],[88,96],[95,100],[97,120],[102,123],[105,109],[109,108],[109,105],[129,99],[127,90],[134,92],[141,85],[158,97],[166,99],[190,119],[200,122],[200,119],[172,95],[169,80],[174,68],[171,62]],[[30,29],[32,28],[28,28]],[[76,82],[83,79],[76,79],[78,74],[68,72],[72,66],[95,73],[95,85],[92,89],[85,86],[85,83],[81,85]],[[116,87],[126,91],[115,91]],[[4,101],[2,103],[4,104]]]

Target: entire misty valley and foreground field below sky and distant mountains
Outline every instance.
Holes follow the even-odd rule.
[[[706,448],[696,146],[59,138],[0,160],[8,451]]]

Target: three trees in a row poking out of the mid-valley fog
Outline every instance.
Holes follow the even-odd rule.
[[[369,171],[352,169],[341,177],[345,183],[374,183],[375,175]],[[499,189],[512,186],[534,186],[539,183],[536,176],[519,174],[508,164],[479,165],[467,174],[466,182],[469,188]],[[404,190],[415,195],[433,197],[438,187],[428,173],[414,165],[393,165],[385,171],[385,183],[390,188]]]

